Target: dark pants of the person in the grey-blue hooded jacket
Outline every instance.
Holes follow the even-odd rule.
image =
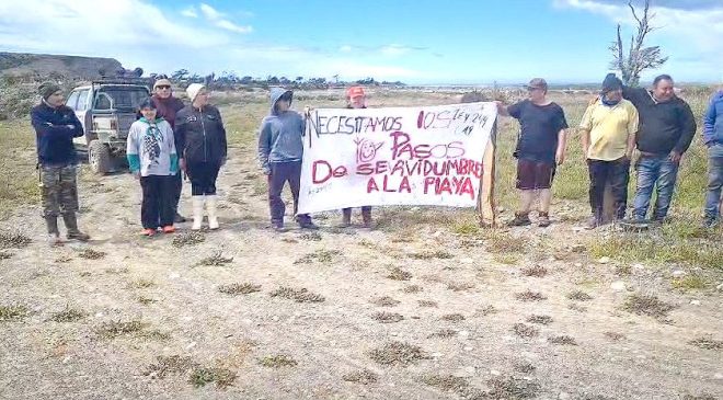
[[[282,199],[282,192],[286,182],[289,183],[291,196],[294,197],[294,215],[299,208],[299,188],[301,186],[301,161],[272,162],[272,173],[268,175],[268,208],[271,210],[272,224],[283,222],[286,206]],[[298,215],[298,221],[309,220],[309,215]]]

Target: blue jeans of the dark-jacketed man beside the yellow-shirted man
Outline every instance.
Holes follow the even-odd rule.
[[[633,218],[645,219],[647,208],[656,190],[653,218],[662,221],[668,214],[673,190],[678,178],[678,163],[668,159],[668,155],[641,156],[635,169],[638,170],[638,188],[633,201]]]

